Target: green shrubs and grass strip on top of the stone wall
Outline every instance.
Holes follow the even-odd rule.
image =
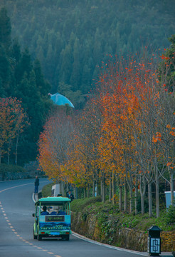
[[[109,216],[112,216],[112,220],[115,221],[117,228],[134,228],[147,232],[148,228],[154,225],[159,226],[162,231],[172,231],[175,229],[175,217],[172,207],[167,212],[165,209],[162,209],[159,218],[156,218],[156,213],[150,218],[148,213],[145,213],[143,216],[142,214],[134,215],[134,213],[122,212],[117,204],[113,205],[109,201],[102,203],[100,197],[92,197],[74,200],[71,203],[71,211],[81,212],[82,219],[84,220],[89,214],[94,214],[98,217],[98,222],[100,226],[103,226],[104,232],[113,227],[112,224],[107,224]]]

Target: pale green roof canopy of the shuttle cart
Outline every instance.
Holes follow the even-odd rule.
[[[36,201],[36,205],[46,205],[46,206],[58,206],[63,205],[63,203],[69,202],[70,198],[68,197],[46,197],[46,198],[40,198],[38,201]]]

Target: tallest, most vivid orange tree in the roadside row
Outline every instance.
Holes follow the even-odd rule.
[[[133,63],[134,64],[134,63]],[[111,69],[102,76],[101,83],[107,94],[102,91],[101,99],[103,106],[104,124],[103,131],[108,138],[108,153],[104,149],[104,156],[112,160],[111,149],[114,151],[116,163],[121,163],[124,178],[127,180],[130,192],[130,211],[132,211],[132,188],[137,188],[137,165],[135,155],[135,142],[133,129],[137,128],[136,116],[139,111],[136,92],[142,86],[135,64],[129,64],[129,68]],[[117,67],[119,68],[119,67]],[[104,82],[105,81],[105,82]],[[107,147],[105,147],[107,148]],[[110,151],[109,151],[110,150]],[[109,155],[110,154],[110,155]],[[120,156],[120,158],[119,158]],[[135,190],[137,193],[137,190]],[[135,202],[137,205],[137,202]]]

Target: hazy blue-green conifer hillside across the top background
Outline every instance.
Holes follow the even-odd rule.
[[[13,38],[38,58],[51,93],[76,108],[94,87],[110,56],[150,54],[169,46],[175,31],[173,0],[1,0]]]

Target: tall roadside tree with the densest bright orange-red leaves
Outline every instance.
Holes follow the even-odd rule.
[[[130,71],[132,69],[129,69]],[[122,77],[122,75],[124,76]],[[113,93],[108,94],[102,99],[103,105],[105,106],[105,123],[103,129],[109,138],[108,145],[110,145],[110,151],[113,149],[115,153],[113,160],[115,159],[115,162],[120,163],[120,166],[123,167],[123,178],[127,179],[129,185],[131,196],[130,211],[132,211],[132,187],[134,182],[132,181],[133,174],[131,172],[132,170],[134,171],[134,162],[131,163],[130,160],[134,160],[134,140],[129,127],[134,120],[134,117],[132,117],[134,109],[137,109],[136,97],[132,93],[133,89],[129,89],[131,82],[133,84],[133,81],[130,79],[131,74],[129,74],[130,81],[126,78],[125,74],[121,74],[121,70],[120,76],[118,72],[117,74],[110,74],[110,76],[113,78],[113,81],[110,79],[110,85],[112,84],[113,86]],[[117,158],[119,156],[120,158]],[[124,180],[123,178],[122,180]]]

